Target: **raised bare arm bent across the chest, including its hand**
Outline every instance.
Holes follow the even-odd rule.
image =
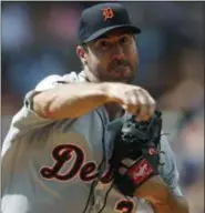
[[[34,111],[49,119],[79,118],[99,105],[116,102],[140,120],[155,110],[155,101],[144,89],[124,83],[68,83],[37,93]],[[82,108],[83,106],[83,108]]]

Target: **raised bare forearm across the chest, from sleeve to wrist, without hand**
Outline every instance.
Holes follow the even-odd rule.
[[[34,111],[43,118],[79,118],[107,102],[106,83],[71,83],[33,98]]]

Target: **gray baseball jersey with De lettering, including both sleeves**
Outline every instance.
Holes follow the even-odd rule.
[[[40,118],[32,110],[35,92],[83,81],[83,71],[50,75],[25,95],[2,146],[2,213],[83,213],[93,181],[94,199],[91,196],[86,212],[98,213],[102,207],[111,187],[107,160],[112,142],[130,115],[110,121],[105,108],[99,106],[79,119],[55,121]],[[160,168],[160,174],[175,194],[182,195],[168,142],[163,136],[161,143],[165,165]],[[105,168],[101,166],[100,176],[102,160]],[[103,213],[133,213],[139,202],[125,199],[112,187]]]

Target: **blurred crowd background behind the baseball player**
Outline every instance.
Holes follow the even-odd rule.
[[[24,94],[49,74],[81,71],[82,9],[96,2],[1,3],[1,141]],[[122,2],[142,29],[135,84],[163,110],[191,213],[204,212],[204,2]]]

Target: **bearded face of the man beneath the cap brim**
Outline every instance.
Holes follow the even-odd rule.
[[[133,81],[139,63],[137,49],[131,32],[114,30],[88,44],[88,70],[98,81]]]

